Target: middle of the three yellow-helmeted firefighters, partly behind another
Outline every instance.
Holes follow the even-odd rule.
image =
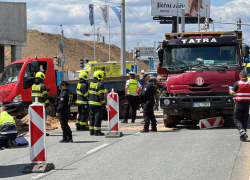
[[[76,120],[76,130],[86,131],[86,123],[88,120],[88,74],[84,71],[80,71],[79,74],[80,83],[77,84],[76,93],[78,105],[78,119]]]

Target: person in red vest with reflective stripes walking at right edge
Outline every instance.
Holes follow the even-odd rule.
[[[242,71],[239,75],[240,81],[237,81],[233,89],[229,91],[234,96],[234,123],[240,133],[240,140],[246,141],[247,123],[249,117],[250,104],[250,82],[247,80],[247,73]]]

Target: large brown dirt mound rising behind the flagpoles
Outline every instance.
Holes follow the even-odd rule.
[[[27,47],[22,47],[22,58],[29,57],[54,57],[60,55],[58,43],[61,42],[61,35],[43,33],[36,30],[27,31]],[[65,48],[64,54],[67,56],[67,62],[64,65],[64,70],[76,71],[80,68],[80,59],[88,58],[89,61],[94,60],[94,42],[84,41],[74,38],[64,38]],[[115,45],[110,45],[111,61],[120,61],[120,48]],[[5,65],[8,65],[11,57],[10,48],[5,48]],[[98,62],[107,62],[109,60],[109,45],[101,42],[96,42],[96,60]],[[133,55],[126,52],[126,60],[133,61]],[[137,59],[139,72],[144,69],[149,69],[149,66]],[[56,62],[54,61],[54,64]],[[61,70],[55,66],[55,69]]]

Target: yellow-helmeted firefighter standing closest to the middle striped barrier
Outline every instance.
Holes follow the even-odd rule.
[[[89,85],[89,131],[90,135],[95,136],[105,135],[101,132],[102,110],[105,107],[104,87],[100,82],[103,80],[103,76],[102,71],[96,71],[94,73],[94,80]]]

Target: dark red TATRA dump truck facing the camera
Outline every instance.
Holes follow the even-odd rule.
[[[181,120],[222,116],[233,126],[233,97],[229,86],[239,80],[249,46],[242,32],[196,32],[165,34],[158,51],[157,85],[164,124],[174,127]]]

